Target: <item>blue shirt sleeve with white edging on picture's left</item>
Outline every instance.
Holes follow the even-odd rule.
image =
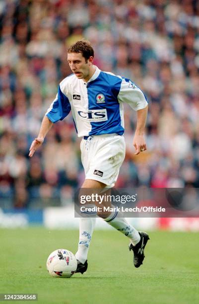
[[[59,120],[63,120],[69,114],[70,110],[71,106],[69,100],[62,92],[59,85],[58,94],[45,115],[50,119],[50,121],[55,123]]]

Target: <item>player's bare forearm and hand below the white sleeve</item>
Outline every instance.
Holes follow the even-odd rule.
[[[133,146],[135,148],[135,155],[139,154],[140,151],[146,150],[146,143],[144,139],[144,128],[146,124],[148,106],[144,109],[137,111],[137,125],[135,129],[135,135],[133,138]]]

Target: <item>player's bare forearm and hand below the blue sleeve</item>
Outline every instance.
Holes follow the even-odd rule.
[[[52,125],[53,125],[53,122],[50,121],[50,119],[45,115],[42,120],[39,134],[38,134],[37,138],[35,138],[34,141],[32,142],[32,145],[30,146],[30,150],[29,150],[30,157],[32,157],[34,152],[43,144],[44,138],[45,138],[46,134],[48,133],[48,131],[51,129]]]

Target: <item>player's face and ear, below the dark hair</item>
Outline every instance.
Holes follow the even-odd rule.
[[[67,62],[71,71],[79,79],[88,80],[90,78],[90,67],[93,61],[91,56],[87,62],[81,53],[68,53]]]

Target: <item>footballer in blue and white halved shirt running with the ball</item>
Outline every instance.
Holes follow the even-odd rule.
[[[94,51],[87,40],[77,41],[68,49],[67,61],[72,74],[60,83],[58,94],[42,120],[39,135],[32,142],[29,156],[32,157],[42,145],[52,125],[71,111],[77,136],[82,137],[80,149],[85,171],[82,188],[103,191],[114,186],[125,158],[123,103],[128,103],[137,112],[133,139],[135,154],[146,150],[143,134],[148,104],[143,92],[130,79],[100,71],[93,65],[93,59]],[[130,238],[133,263],[139,267],[144,259],[148,234],[138,232],[117,211],[99,216]],[[79,221],[76,272],[83,274],[88,267],[87,254],[96,218],[80,218]]]

